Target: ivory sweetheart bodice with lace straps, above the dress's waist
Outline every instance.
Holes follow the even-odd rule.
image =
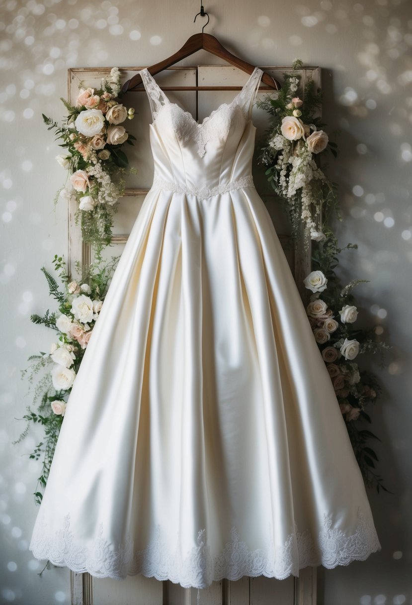
[[[262,73],[256,67],[230,103],[222,103],[199,123],[190,112],[170,102],[146,68],[140,71],[153,117],[153,185],[169,183],[188,195],[209,190],[216,195],[239,182],[253,186],[256,128],[252,109]]]

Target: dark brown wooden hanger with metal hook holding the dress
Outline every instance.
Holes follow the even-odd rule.
[[[202,5],[201,11],[200,13],[198,13],[198,15],[207,15]],[[196,17],[198,15],[196,15]],[[207,17],[209,16],[207,15]],[[208,22],[209,21],[207,21],[206,25],[208,24]],[[190,36],[190,38],[187,39],[185,44],[182,46],[182,48],[177,51],[177,53],[172,54],[172,56],[167,57],[167,59],[164,59],[163,61],[149,67],[148,70],[150,74],[154,76],[156,73],[159,73],[159,71],[166,70],[171,65],[174,65],[181,59],[185,59],[185,57],[188,57],[190,54],[196,53],[198,50],[207,50],[209,53],[216,54],[217,57],[224,59],[235,67],[239,67],[241,70],[246,71],[246,73],[248,74],[251,74],[253,72],[255,68],[254,65],[251,65],[250,63],[247,63],[246,61],[243,61],[243,59],[239,59],[239,57],[236,57],[234,54],[230,53],[224,46],[222,46],[222,44],[220,44],[217,38],[211,36],[210,34],[203,33],[204,28],[205,25],[202,28],[202,33]],[[140,74],[135,74],[123,84],[123,87],[121,88],[122,93],[126,93],[127,91],[137,88],[138,85],[141,84],[141,82],[142,80]],[[265,84],[269,87],[270,90],[280,90],[281,88],[280,83],[274,78],[272,78],[272,76],[269,76],[269,74],[265,71],[262,74],[262,82],[265,82]],[[195,87],[194,89],[192,88],[192,90],[210,90],[210,87]]]

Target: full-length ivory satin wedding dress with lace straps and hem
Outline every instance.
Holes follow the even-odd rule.
[[[30,549],[202,588],[381,549],[332,382],[254,188],[256,68],[202,123],[142,70],[153,185],[69,396]]]

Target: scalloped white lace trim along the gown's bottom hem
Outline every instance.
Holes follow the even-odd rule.
[[[70,516],[66,515],[64,528],[54,535],[48,535],[47,523],[36,522],[30,550],[37,559],[48,559],[56,566],[69,567],[79,574],[88,572],[98,578],[117,580],[142,574],[156,580],[170,580],[185,588],[205,588],[223,578],[236,581],[243,576],[265,575],[284,580],[289,575],[298,576],[299,570],[308,566],[323,565],[327,569],[346,566],[354,560],[365,560],[372,552],[380,551],[381,545],[372,518],[365,519],[359,509],[354,534],[333,529],[332,517],[325,514],[317,541],[309,531],[298,532],[295,527],[284,545],[275,545],[268,539],[264,548],[254,551],[240,540],[237,529],[232,528],[230,540],[216,557],[207,545],[205,529],[199,531],[197,545],[184,557],[179,548],[174,553],[169,551],[159,527],[143,551],[134,552],[133,541],[115,550],[103,538],[103,525],[93,544],[86,548],[75,540]]]

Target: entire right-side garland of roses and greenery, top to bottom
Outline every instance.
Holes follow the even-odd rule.
[[[321,129],[324,124],[315,117],[322,95],[314,90],[314,81],[309,81],[301,93],[304,101],[298,96],[297,70],[301,65],[301,60],[297,60],[292,73],[283,74],[284,84],[276,99],[266,97],[257,102],[272,116],[260,162],[269,166],[265,174],[289,214],[292,237],[303,242],[306,250],[309,241],[314,241],[313,270],[304,279],[304,286],[312,292],[306,306],[307,317],[346,420],[365,483],[375,486],[378,492],[380,488],[387,491],[376,473],[378,456],[370,447],[370,441],[379,437],[361,424],[372,422],[365,408],[375,404],[381,388],[376,376],[361,370],[357,360],[362,353],[380,350],[384,367],[384,350],[390,347],[377,341],[375,327],[362,330],[354,325],[358,308],[353,288],[369,280],[356,279],[343,286],[336,275],[338,255],[358,246],[349,243],[344,248],[338,247],[330,224],[332,211],[342,220],[337,185],[327,179],[317,162],[327,149],[336,157],[337,148]]]

